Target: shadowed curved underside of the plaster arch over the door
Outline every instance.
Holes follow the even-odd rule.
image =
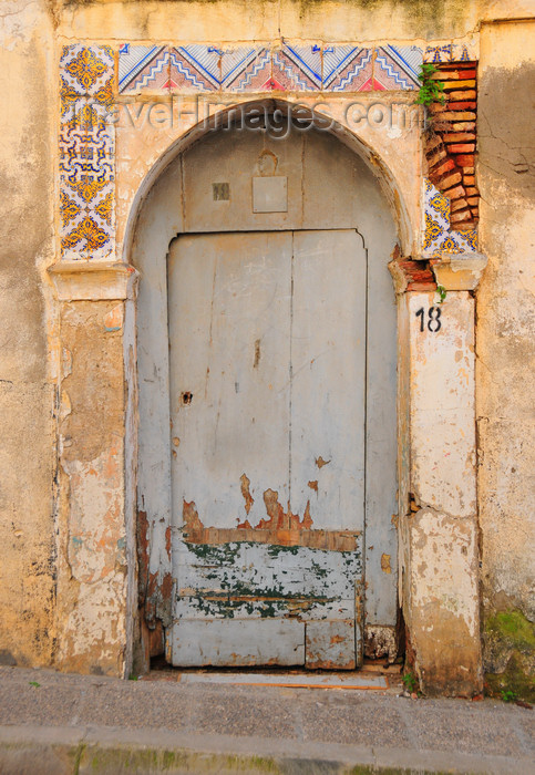
[[[307,105],[299,103],[298,100],[292,101],[281,97],[266,97],[247,102],[236,102],[220,111],[215,112],[174,140],[161,154],[160,158],[153,164],[152,168],[148,170],[138,186],[128,210],[122,251],[122,260],[125,264],[131,262],[132,244],[136,224],[143,209],[143,203],[168,165],[194,144],[202,142],[204,137],[209,136],[210,133],[220,131],[220,128],[224,126],[232,128],[233,125],[235,125],[236,115],[247,116],[255,110],[257,110],[259,113],[268,115],[274,115],[277,111],[279,111],[282,116],[290,116],[292,120],[296,118],[296,113],[298,111],[298,120],[300,122],[312,122],[311,128],[317,132],[326,132],[333,135],[350,151],[362,158],[377,179],[379,188],[389,204],[400,241],[401,255],[411,255],[414,245],[414,235],[404,196],[393,172],[382,158],[380,149],[372,147],[349,126],[344,126],[332,116],[318,111],[316,107],[311,110]],[[258,131],[259,128],[260,126],[256,126],[251,127],[250,131]],[[306,130],[301,126],[296,131],[303,132]]]

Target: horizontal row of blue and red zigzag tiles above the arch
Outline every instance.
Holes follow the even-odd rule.
[[[223,49],[208,44],[119,50],[120,94],[163,92],[370,92],[415,90],[423,51],[416,45],[358,44]]]

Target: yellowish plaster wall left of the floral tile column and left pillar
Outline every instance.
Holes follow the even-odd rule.
[[[53,260],[55,75],[47,2],[0,8],[0,663],[54,652],[53,365],[42,267]]]

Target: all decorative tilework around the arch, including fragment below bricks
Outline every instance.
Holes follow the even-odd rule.
[[[464,44],[461,44],[464,45]],[[60,236],[63,260],[115,256],[114,94],[261,91],[371,92],[418,89],[422,59],[472,58],[457,44],[428,46],[310,43],[243,45],[74,44],[60,59]],[[116,80],[115,80],[115,59]],[[423,256],[477,248],[477,232],[452,231],[450,203],[424,182]]]

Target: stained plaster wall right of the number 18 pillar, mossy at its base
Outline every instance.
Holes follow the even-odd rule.
[[[488,267],[477,293],[484,664],[535,694],[535,23],[481,34],[477,175]],[[526,675],[529,678],[526,679]],[[531,688],[528,688],[531,686]]]

